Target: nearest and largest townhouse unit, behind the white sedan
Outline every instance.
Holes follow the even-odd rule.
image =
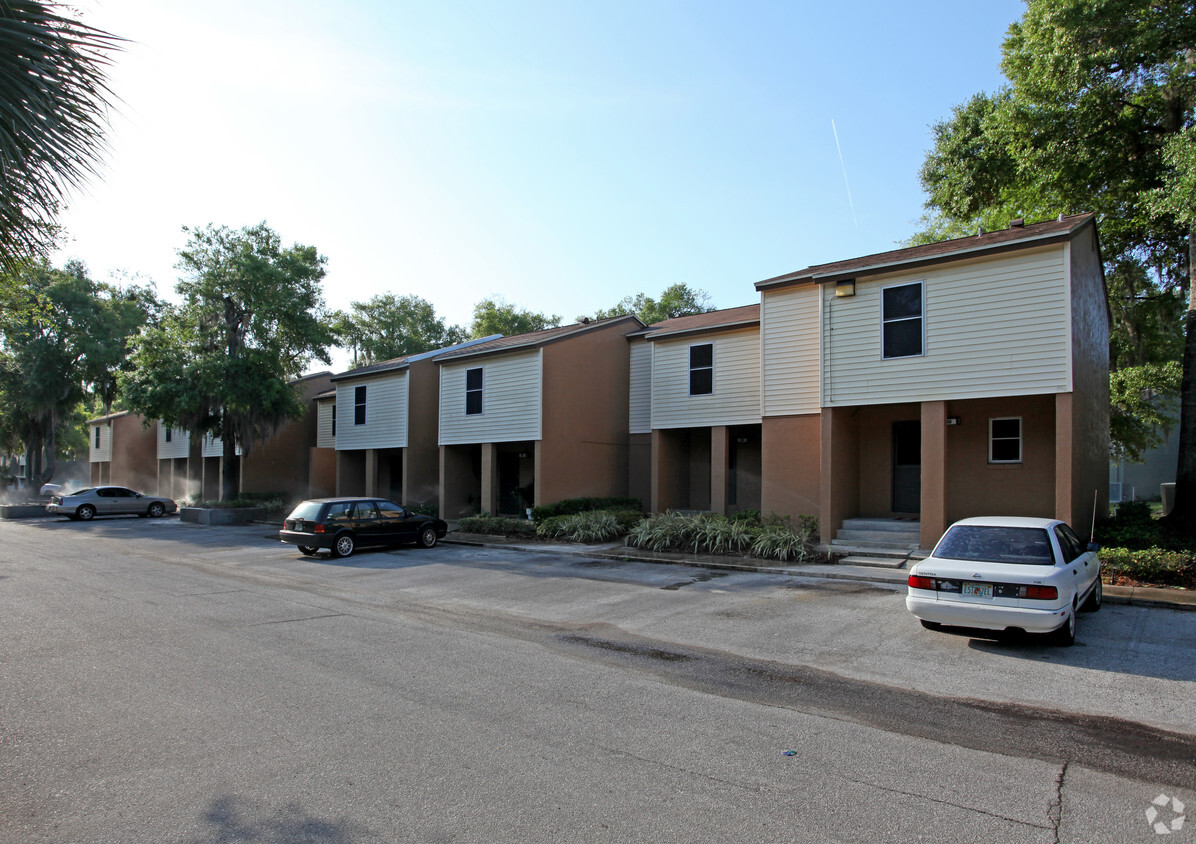
[[[761,294],[762,509],[917,525],[1107,507],[1109,312],[1081,214],[807,267]]]

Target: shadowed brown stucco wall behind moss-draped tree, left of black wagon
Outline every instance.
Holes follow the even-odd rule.
[[[311,481],[311,448],[316,445],[316,396],[332,385],[330,373],[295,383],[304,415],[285,423],[273,436],[255,442],[242,454],[240,489],[245,493],[286,493],[292,499],[307,497]]]

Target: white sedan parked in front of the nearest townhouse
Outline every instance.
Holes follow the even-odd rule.
[[[930,630],[1052,634],[1072,644],[1076,612],[1100,608],[1097,551],[1057,519],[964,519],[910,569],[905,607]]]

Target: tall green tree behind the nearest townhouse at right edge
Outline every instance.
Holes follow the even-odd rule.
[[[1190,0],[1027,0],[1002,45],[1001,68],[1006,86],[977,93],[934,127],[921,171],[926,231],[915,243],[975,233],[981,225],[1003,228],[1017,218],[1097,214],[1113,365],[1161,363],[1149,350],[1155,342],[1167,354],[1180,343],[1186,349],[1177,519],[1191,521],[1196,8]]]

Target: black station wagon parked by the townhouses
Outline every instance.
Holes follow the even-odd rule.
[[[282,522],[279,539],[298,545],[305,555],[330,551],[348,557],[360,545],[415,543],[432,548],[448,532],[440,519],[413,513],[383,499],[312,499],[295,507]]]

